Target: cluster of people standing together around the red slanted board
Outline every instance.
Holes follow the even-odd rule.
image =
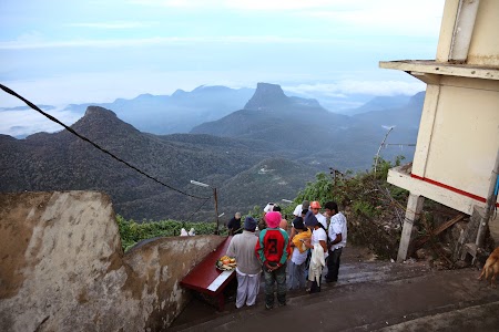
[[[267,209],[267,207],[269,207]],[[326,282],[336,282],[343,248],[347,240],[347,221],[335,201],[324,206],[304,200],[294,210],[291,230],[276,206],[264,209],[263,221],[256,235],[257,221],[248,216],[241,222],[236,214],[227,224],[234,235],[227,256],[237,261],[236,308],[255,304],[259,291],[261,273],[265,280],[265,308],[286,305],[287,290],[305,288],[307,292],[320,291],[323,268],[327,266]],[[329,219],[329,222],[327,221]],[[274,290],[275,284],[276,291]]]

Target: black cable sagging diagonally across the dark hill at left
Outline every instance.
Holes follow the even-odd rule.
[[[211,196],[210,196],[210,197],[200,197],[200,196],[195,196],[195,195],[187,194],[187,193],[185,193],[185,191],[182,191],[182,190],[180,190],[180,189],[176,189],[176,188],[174,188],[174,187],[172,187],[172,186],[170,186],[170,185],[167,185],[167,184],[165,184],[165,183],[163,183],[163,181],[156,179],[155,177],[153,177],[153,176],[151,176],[151,175],[149,175],[149,174],[142,172],[141,169],[139,169],[138,167],[135,167],[135,166],[131,165],[130,163],[123,160],[122,158],[120,158],[120,157],[113,155],[112,153],[110,153],[110,152],[106,151],[105,148],[99,146],[96,143],[93,143],[92,141],[90,141],[89,138],[86,138],[85,136],[80,135],[80,134],[77,133],[73,128],[67,126],[65,124],[63,124],[62,122],[60,122],[58,118],[53,117],[52,115],[50,115],[50,114],[43,112],[43,111],[40,110],[37,105],[34,105],[33,103],[31,103],[30,101],[28,101],[28,100],[24,98],[23,96],[19,95],[19,94],[16,93],[14,91],[10,90],[9,87],[4,86],[3,84],[0,84],[0,89],[2,89],[2,90],[3,90],[4,92],[7,92],[8,94],[11,94],[11,95],[13,95],[13,96],[20,98],[20,100],[23,101],[28,106],[30,106],[30,107],[33,108],[34,111],[41,113],[43,116],[48,117],[49,120],[51,120],[51,121],[53,121],[53,122],[60,124],[61,126],[63,126],[63,127],[64,127],[68,132],[70,132],[71,134],[77,135],[79,138],[81,138],[81,139],[88,142],[88,143],[92,144],[95,148],[98,148],[98,149],[100,149],[101,152],[103,152],[103,153],[110,155],[111,157],[113,157],[113,158],[116,159],[118,162],[123,163],[123,164],[126,165],[128,167],[130,167],[130,168],[132,168],[132,169],[139,172],[140,174],[144,175],[145,177],[152,179],[153,181],[156,181],[156,183],[159,183],[160,185],[162,185],[162,186],[164,186],[164,187],[166,187],[166,188],[169,188],[169,189],[171,189],[171,190],[174,190],[174,191],[176,191],[176,193],[180,193],[180,194],[185,195],[185,196],[189,196],[189,197],[193,197],[193,198],[197,198],[197,199],[206,199],[206,200],[207,200],[208,198],[211,198]]]

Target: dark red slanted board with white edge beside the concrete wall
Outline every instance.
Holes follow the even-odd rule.
[[[227,237],[180,282],[180,284],[184,288],[215,298],[220,311],[224,309],[225,304],[223,290],[231,282],[231,280],[234,279],[235,270],[221,271],[215,267],[215,263],[227,252],[231,239],[232,236]]]

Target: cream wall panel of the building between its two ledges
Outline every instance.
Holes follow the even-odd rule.
[[[425,105],[413,174],[486,198],[499,142],[499,82],[444,76]],[[430,120],[429,117],[434,117]],[[445,203],[444,203],[445,204]]]

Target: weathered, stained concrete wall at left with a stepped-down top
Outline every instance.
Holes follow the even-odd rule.
[[[110,198],[0,195],[0,331],[159,331],[179,281],[223,238],[157,238],[123,255]]]

